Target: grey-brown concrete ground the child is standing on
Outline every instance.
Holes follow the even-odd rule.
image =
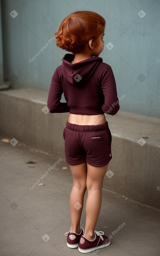
[[[82,255],[77,248],[67,247],[64,236],[70,229],[72,187],[64,156],[56,159],[14,143],[0,143],[0,256]],[[48,172],[50,166],[54,168]],[[39,186],[37,180],[44,186]],[[85,208],[81,221],[84,225]],[[160,256],[158,209],[103,189],[96,230],[109,235],[111,245],[88,255]]]

